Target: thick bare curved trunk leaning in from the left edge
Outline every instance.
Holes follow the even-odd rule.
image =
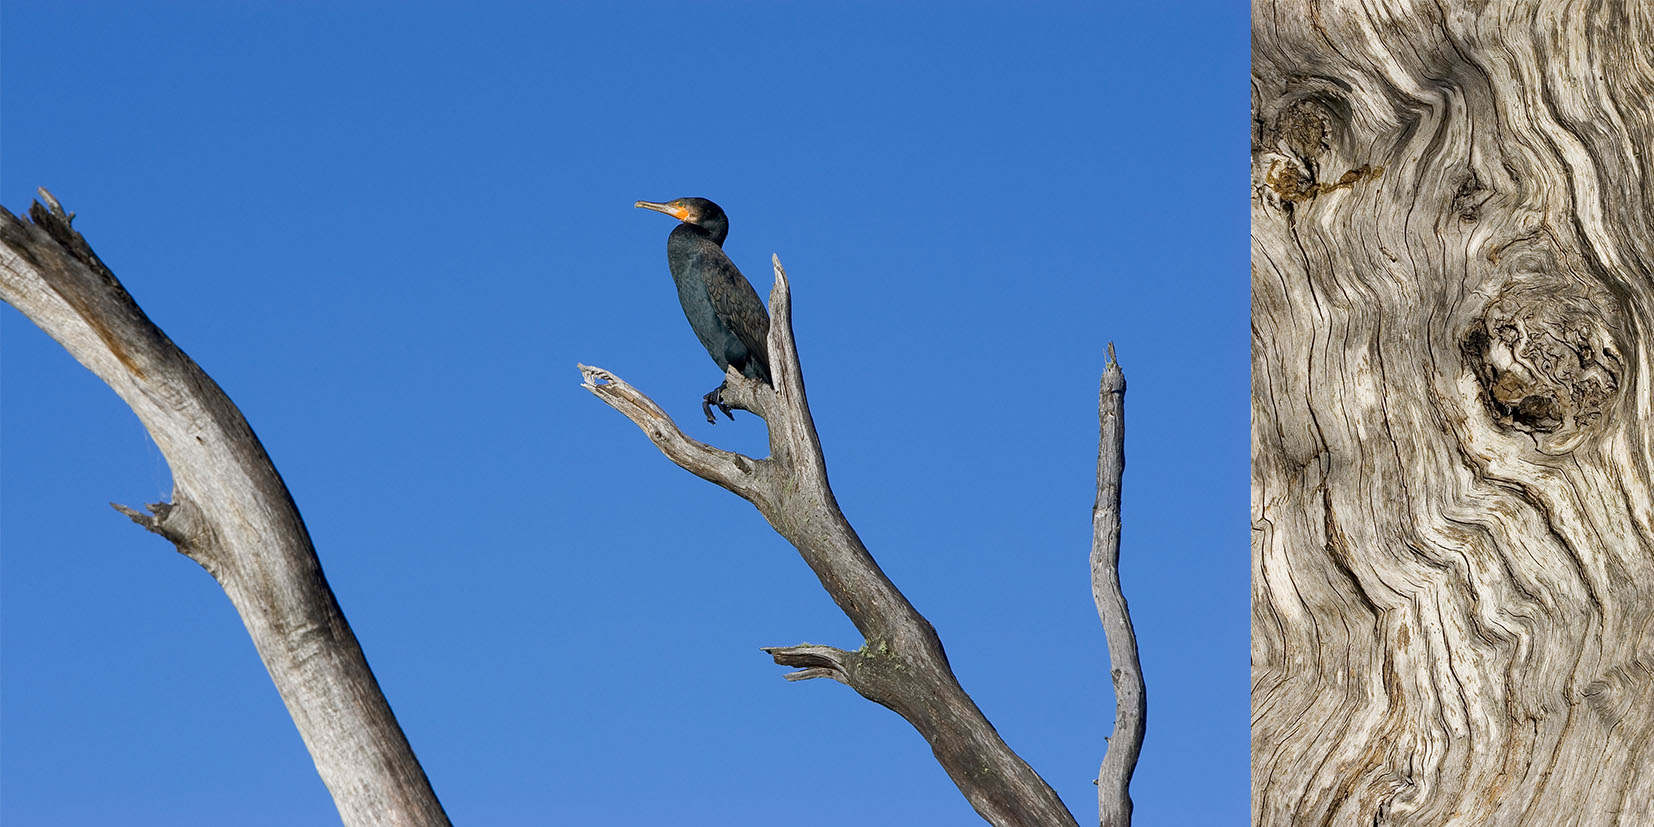
[[[33,223],[0,208],[0,298],[108,382],[172,468],[154,516],[116,508],[223,587],[344,824],[448,824],[258,437],[41,197]]]

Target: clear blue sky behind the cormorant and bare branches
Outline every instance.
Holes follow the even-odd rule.
[[[457,824],[978,824],[925,743],[759,652],[855,630],[700,438],[705,195],[779,253],[839,501],[1095,819],[1097,382],[1130,380],[1138,825],[1247,817],[1245,3],[48,3],[0,17],[0,202],[51,189],[240,404]],[[0,820],[329,824],[228,600],[106,504],[136,417],[10,308]]]

